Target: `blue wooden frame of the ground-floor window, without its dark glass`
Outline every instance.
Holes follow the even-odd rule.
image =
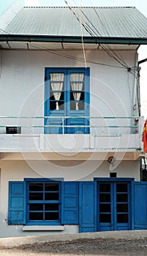
[[[26,178],[26,225],[61,225],[61,179],[48,179],[48,178]],[[29,200],[29,184],[59,184],[59,200]],[[43,194],[45,190],[42,191]],[[53,203],[59,205],[59,219],[58,220],[29,220],[29,204],[30,203]],[[45,209],[43,209],[43,215],[45,214]]]

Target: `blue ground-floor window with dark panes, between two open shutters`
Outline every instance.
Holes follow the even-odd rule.
[[[27,182],[27,224],[58,225],[61,222],[60,182]]]

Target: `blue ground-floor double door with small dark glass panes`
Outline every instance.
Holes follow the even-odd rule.
[[[130,230],[129,182],[98,182],[97,230]]]

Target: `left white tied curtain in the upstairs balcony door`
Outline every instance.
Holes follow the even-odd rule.
[[[51,82],[51,89],[53,91],[53,96],[56,100],[56,110],[59,110],[59,102],[57,100],[61,97],[61,92],[63,90],[64,85],[64,74],[62,73],[50,73],[50,80],[56,81]],[[58,82],[59,81],[59,82]],[[61,82],[63,81],[63,82]]]

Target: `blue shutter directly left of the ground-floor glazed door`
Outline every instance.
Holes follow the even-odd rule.
[[[95,202],[94,202],[94,182],[85,181],[80,182],[80,233],[83,232],[95,232],[96,231],[96,214],[95,214]]]

